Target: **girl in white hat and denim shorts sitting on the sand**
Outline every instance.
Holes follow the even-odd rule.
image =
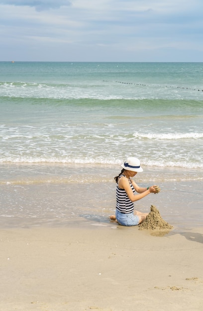
[[[149,193],[158,193],[160,187],[157,185],[141,188],[131,178],[143,169],[136,157],[128,157],[121,165],[120,174],[114,177],[116,187],[116,211],[110,219],[117,221],[122,226],[137,226],[142,223],[148,213],[134,211],[133,202],[146,197]],[[139,194],[135,195],[135,191]]]

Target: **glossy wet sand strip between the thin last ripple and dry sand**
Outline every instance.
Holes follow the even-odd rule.
[[[159,185],[160,193],[137,201],[135,210],[146,213],[154,205],[176,230],[202,227],[202,181]],[[115,212],[115,183],[1,185],[0,206],[0,228],[63,228],[72,223],[110,226],[109,215]]]

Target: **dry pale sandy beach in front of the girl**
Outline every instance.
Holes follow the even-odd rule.
[[[0,230],[2,311],[202,311],[203,229]]]

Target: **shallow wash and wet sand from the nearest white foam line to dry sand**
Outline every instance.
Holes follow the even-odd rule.
[[[0,228],[111,225],[109,215],[116,205],[113,177],[120,172],[119,165],[0,167]],[[145,167],[135,182],[142,187],[158,184],[161,191],[136,201],[135,210],[147,213],[151,205],[156,206],[176,232],[202,227],[200,176],[196,169]]]

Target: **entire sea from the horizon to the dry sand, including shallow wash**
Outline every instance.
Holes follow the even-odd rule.
[[[0,227],[117,228],[128,156],[135,209],[203,226],[203,63],[0,62]]]

